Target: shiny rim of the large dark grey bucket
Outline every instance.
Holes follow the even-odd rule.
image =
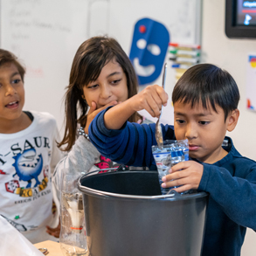
[[[99,170],[95,171],[98,172]],[[131,172],[130,170],[128,171],[118,171],[115,173],[128,173]],[[143,172],[143,173],[147,173],[147,172],[152,172],[150,170],[142,170],[142,171],[136,171],[133,170],[132,173],[136,173],[136,172]],[[83,186],[81,184],[81,180],[86,177],[86,176],[102,176],[102,175],[107,175],[113,172],[105,172],[105,173],[97,173],[94,174],[93,173],[87,173],[86,175],[80,176],[79,180],[78,180],[78,189],[85,193],[86,195],[90,195],[90,196],[94,196],[94,197],[107,197],[107,198],[119,198],[119,199],[142,199],[142,200],[157,200],[157,199],[169,199],[171,201],[179,201],[179,200],[189,200],[189,199],[196,199],[198,197],[207,197],[208,193],[204,192],[204,191],[200,191],[200,192],[196,192],[196,193],[187,193],[187,194],[180,194],[178,192],[176,192],[176,190],[170,190],[170,194],[166,194],[166,195],[158,195],[158,196],[138,196],[138,195],[126,195],[126,194],[120,194],[120,193],[113,193],[113,192],[107,192],[107,191],[103,191],[103,190],[94,190],[91,189],[89,187]]]

